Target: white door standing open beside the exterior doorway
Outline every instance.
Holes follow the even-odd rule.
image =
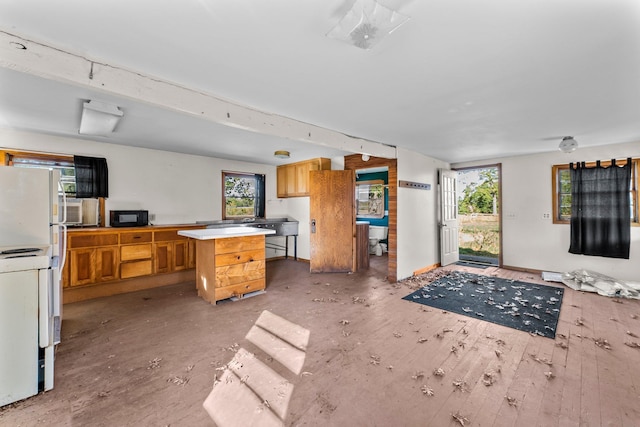
[[[440,169],[440,265],[458,262],[458,173]]]

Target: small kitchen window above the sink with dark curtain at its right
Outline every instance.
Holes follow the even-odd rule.
[[[222,172],[222,219],[264,218],[264,175]]]

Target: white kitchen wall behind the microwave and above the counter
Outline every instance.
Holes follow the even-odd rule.
[[[276,197],[276,168],[271,165],[9,129],[0,129],[0,147],[106,158],[109,167],[107,215],[112,209],[146,209],[150,215],[155,215],[154,224],[221,219],[222,170],[265,174],[267,216],[287,216],[289,211],[289,199]],[[293,246],[293,239],[291,243]],[[290,253],[293,254],[293,249]],[[283,252],[267,251],[268,257],[275,255],[281,256]]]

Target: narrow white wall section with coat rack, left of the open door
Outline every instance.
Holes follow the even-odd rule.
[[[430,190],[398,187],[398,280],[440,262],[438,169],[449,164],[398,149],[398,180],[431,184]]]

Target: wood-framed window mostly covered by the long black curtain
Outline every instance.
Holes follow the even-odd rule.
[[[638,171],[640,159],[633,159],[631,167],[631,182],[629,183],[629,200],[631,209],[629,212],[631,225],[640,226],[640,202],[638,201]],[[601,162],[603,166],[609,166],[611,162]],[[595,162],[586,163],[586,166],[595,166]],[[555,224],[569,224],[571,219],[571,179],[569,165],[554,165],[552,168],[553,184],[553,222]]]

